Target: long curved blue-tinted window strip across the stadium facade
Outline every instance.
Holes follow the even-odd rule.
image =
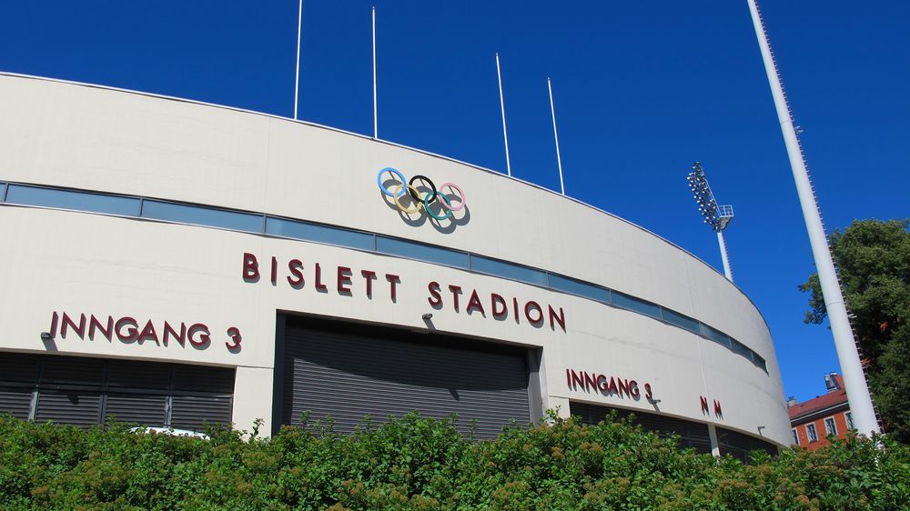
[[[541,286],[572,296],[581,296],[604,304],[660,319],[672,326],[702,336],[759,367],[765,373],[764,358],[748,346],[689,316],[684,316],[636,296],[598,286],[569,276],[561,276],[530,266],[518,265],[470,252],[404,240],[386,235],[357,231],[346,227],[320,225],[303,220],[238,211],[223,207],[178,203],[135,195],[89,192],[45,185],[0,182],[0,203],[30,205],[132,216],[187,225],[217,227],[246,233],[275,235],[301,241],[354,248],[377,254],[397,255],[430,264],[470,269],[480,274],[499,276]]]

